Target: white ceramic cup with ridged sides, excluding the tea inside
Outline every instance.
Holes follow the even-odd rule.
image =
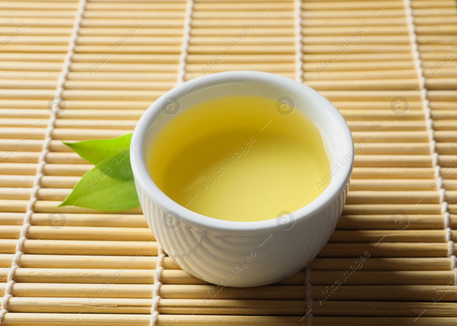
[[[285,217],[258,222],[224,221],[188,210],[151,179],[147,161],[154,137],[176,114],[230,95],[292,99],[291,107],[314,121],[330,160],[332,180],[314,201]],[[278,113],[279,114],[279,113]],[[354,162],[351,131],[338,110],[298,81],[266,72],[230,71],[202,76],[157,99],[133,132],[131,163],[141,207],[165,252],[186,272],[217,291],[252,287],[292,276],[311,262],[335,229]]]

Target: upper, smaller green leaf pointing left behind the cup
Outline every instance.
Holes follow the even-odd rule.
[[[80,157],[92,164],[97,164],[106,158],[125,151],[130,146],[132,134],[127,134],[112,139],[97,139],[90,141],[79,141],[75,143],[64,142],[71,147]]]

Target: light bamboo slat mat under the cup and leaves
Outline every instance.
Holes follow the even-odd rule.
[[[2,325],[150,325],[158,263],[158,326],[457,324],[455,0],[79,6],[0,1]],[[337,229],[308,269],[215,293],[158,262],[140,209],[55,206],[92,167],[62,140],[124,135],[177,80],[228,70],[318,90],[348,121],[357,155]]]

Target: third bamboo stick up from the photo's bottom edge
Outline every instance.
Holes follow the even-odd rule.
[[[446,258],[443,258],[446,259]],[[0,291],[4,291],[4,285],[0,284]],[[137,298],[147,299],[151,297],[153,285],[149,284],[72,284],[72,283],[15,283],[13,293],[21,297],[65,297],[65,298]],[[356,290],[368,300],[421,300],[429,301],[436,291],[445,288],[437,285],[342,285],[338,291],[332,293],[332,300],[360,300]],[[173,285],[164,284],[160,287],[160,296],[165,299],[207,299],[212,297],[208,294],[213,291],[213,285]],[[243,292],[241,292],[244,291]],[[327,286],[311,286],[311,296],[322,299],[322,291],[328,290]],[[3,294],[3,293],[2,293]],[[225,287],[217,294],[217,299],[282,299],[303,300],[304,286],[264,286],[259,288],[230,288]],[[456,301],[457,293],[450,290],[441,302]]]

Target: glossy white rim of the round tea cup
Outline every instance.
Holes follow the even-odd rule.
[[[335,119],[340,125],[341,130],[343,131],[343,135],[339,136],[344,137],[348,152],[351,152],[352,150],[352,153],[354,153],[354,144],[352,141],[351,130],[349,129],[349,126],[347,125],[345,119],[340,114],[338,109],[336,109],[335,106],[330,103],[327,98],[319,94],[319,92],[316,92],[311,87],[304,86],[301,82],[295,81],[285,76],[275,75],[262,71],[219,72],[207,76],[200,76],[177,85],[170,91],[165,92],[162,96],[155,100],[148,109],[146,109],[138,121],[135,130],[133,131],[132,139],[138,139],[137,137],[139,137],[139,139],[145,139],[146,132],[150,127],[150,123],[162,111],[160,103],[162,103],[165,98],[170,96],[178,97],[181,94],[186,92],[188,93],[190,88],[193,88],[192,92],[195,92],[197,89],[208,87],[210,85],[212,86],[215,84],[237,81],[249,81],[257,83],[259,81],[261,83],[265,81],[270,84],[276,84],[280,87],[287,87],[288,89],[298,91],[299,94],[302,94],[302,96],[305,98],[313,98],[314,102],[318,102],[320,104],[320,109],[325,110],[326,114],[332,116],[332,118]],[[194,85],[197,85],[197,87]],[[328,136],[330,139],[335,138],[335,136]],[[184,206],[181,206],[180,204],[173,201],[170,197],[166,196],[165,193],[163,193],[162,190],[160,190],[159,187],[155,185],[154,181],[149,175],[144,154],[145,149],[143,141],[140,141],[135,147],[130,147],[130,161],[137,188],[141,189],[151,201],[153,201],[165,212],[176,212],[179,215],[181,222],[186,222],[200,228],[223,233],[250,233],[253,231],[265,232],[269,229],[278,228],[278,224],[276,223],[276,219],[278,217],[255,222],[226,221],[213,217],[207,217],[197,212],[193,212]],[[329,206],[335,200],[335,198],[340,195],[341,191],[345,188],[349,181],[353,164],[354,155],[351,155],[350,161],[346,163],[338,172],[338,178],[334,179],[332,177],[332,180],[327,188],[316,199],[311,201],[306,206],[298,209],[297,211],[292,212],[293,217],[295,218],[295,223],[297,223],[299,220],[313,217],[317,212]]]

